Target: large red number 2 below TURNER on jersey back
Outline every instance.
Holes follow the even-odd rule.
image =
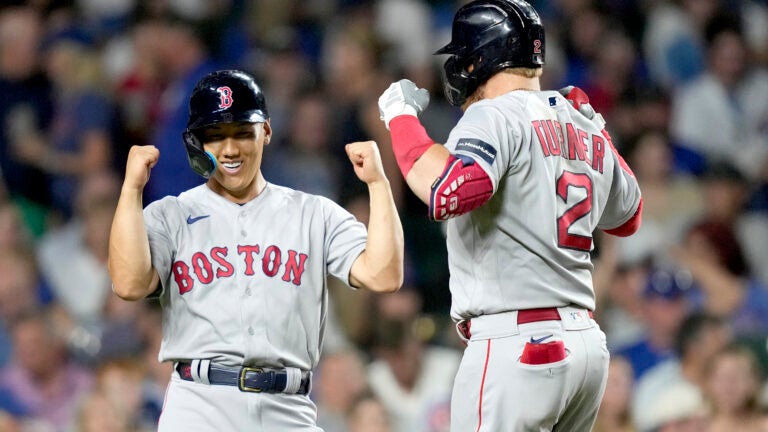
[[[583,188],[587,196],[569,205],[568,191],[572,187]],[[564,171],[557,179],[557,196],[568,206],[563,215],[557,218],[557,245],[589,252],[592,248],[592,236],[571,234],[569,230],[592,211],[592,179],[586,174]]]

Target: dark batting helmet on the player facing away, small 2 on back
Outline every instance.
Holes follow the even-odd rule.
[[[451,42],[435,54],[451,54],[443,66],[445,95],[460,106],[502,69],[541,67],[544,27],[525,1],[476,0],[456,12]]]

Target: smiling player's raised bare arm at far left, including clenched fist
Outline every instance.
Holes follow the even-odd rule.
[[[109,234],[107,264],[112,289],[124,300],[148,296],[159,281],[152,267],[142,204],[144,185],[159,156],[154,146],[133,146],[128,154],[125,180]]]

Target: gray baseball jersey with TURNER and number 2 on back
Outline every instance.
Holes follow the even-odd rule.
[[[637,211],[640,189],[598,127],[556,91],[474,103],[446,143],[488,173],[494,194],[447,222],[451,315],[595,309],[596,229]]]

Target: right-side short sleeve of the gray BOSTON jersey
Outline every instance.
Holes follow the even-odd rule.
[[[321,198],[325,213],[325,251],[328,273],[348,286],[352,264],[365,250],[368,232],[361,222],[335,202]]]

